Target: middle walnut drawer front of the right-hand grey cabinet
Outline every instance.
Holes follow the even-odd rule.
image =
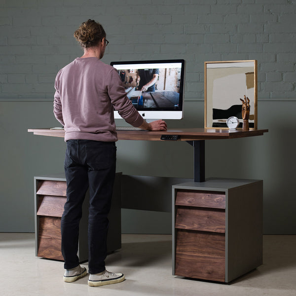
[[[225,233],[225,211],[179,206],[175,227]]]

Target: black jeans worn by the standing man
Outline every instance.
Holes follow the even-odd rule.
[[[79,264],[78,232],[82,203],[89,188],[88,269],[105,270],[107,256],[108,214],[115,178],[114,142],[69,140],[65,157],[67,201],[61,220],[62,254],[66,269]],[[85,214],[84,214],[85,215]]]

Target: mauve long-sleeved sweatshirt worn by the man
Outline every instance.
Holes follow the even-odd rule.
[[[112,66],[95,57],[76,58],[55,79],[53,111],[64,126],[65,141],[117,141],[115,109],[135,127],[144,119],[127,98]]]

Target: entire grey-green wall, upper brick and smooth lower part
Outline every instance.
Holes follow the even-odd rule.
[[[262,179],[264,233],[295,234],[295,12],[293,0],[0,1],[0,231],[34,231],[33,177],[63,171],[63,139],[27,129],[58,125],[54,78],[81,55],[72,36],[91,18],[111,42],[105,63],[186,60],[184,119],[169,127],[203,127],[204,61],[258,60],[258,124],[269,133],[207,141],[206,177]],[[193,177],[186,143],[117,148],[124,174]],[[125,233],[169,233],[170,222],[169,212],[122,210]]]

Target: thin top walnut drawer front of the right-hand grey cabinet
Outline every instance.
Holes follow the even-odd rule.
[[[176,205],[225,209],[225,192],[178,189]]]

